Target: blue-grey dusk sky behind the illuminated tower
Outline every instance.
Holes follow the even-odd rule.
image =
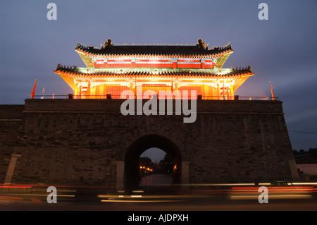
[[[57,6],[48,20],[47,4]],[[268,20],[259,20],[259,4]],[[0,2],[0,104],[73,91],[54,73],[58,63],[85,67],[78,42],[232,45],[223,68],[251,66],[254,76],[235,92],[283,102],[294,149],[317,147],[317,1],[16,1]],[[299,131],[299,132],[298,132]]]

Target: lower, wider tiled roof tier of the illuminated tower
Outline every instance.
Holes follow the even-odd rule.
[[[232,68],[229,72],[221,73],[217,70],[167,70],[167,71],[160,71],[160,70],[151,70],[151,71],[138,71],[138,70],[105,70],[105,69],[94,69],[89,71],[87,68],[87,72],[83,72],[79,70],[75,66],[61,66],[58,65],[55,73],[66,73],[68,75],[77,75],[82,77],[103,77],[103,76],[120,76],[122,78],[128,78],[131,76],[147,76],[147,75],[157,75],[160,77],[188,77],[188,78],[228,78],[233,76],[243,76],[243,75],[254,75],[251,71],[251,67],[248,66],[246,68]]]

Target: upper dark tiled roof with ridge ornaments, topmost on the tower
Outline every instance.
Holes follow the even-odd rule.
[[[232,51],[230,44],[208,49],[199,40],[195,45],[113,45],[108,39],[101,48],[77,44],[75,49],[82,53],[107,56],[212,56]]]

